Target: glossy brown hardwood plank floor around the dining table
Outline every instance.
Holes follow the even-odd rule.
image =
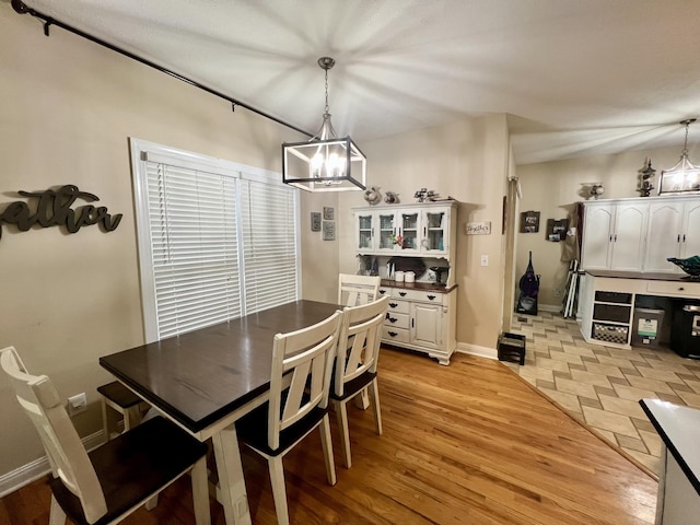
[[[498,361],[456,354],[450,366],[383,349],[384,435],[350,409],[353,465],[326,482],[317,432],[284,460],[296,524],[651,524],[657,483]],[[243,452],[254,524],[273,524],[265,462]],[[48,523],[36,481],[0,500],[0,523]],[[212,501],[212,523],[222,525]],[[126,524],[194,523],[188,481]]]

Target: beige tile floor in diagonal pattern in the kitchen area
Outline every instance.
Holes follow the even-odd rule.
[[[516,314],[511,331],[526,336],[526,360],[504,364],[653,472],[661,439],[638,401],[700,408],[700,361],[667,348],[590,345],[574,319],[548,312]]]

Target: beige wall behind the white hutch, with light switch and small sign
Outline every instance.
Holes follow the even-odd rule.
[[[360,144],[368,155],[369,178],[382,194],[396,191],[400,202],[416,202],[421,187],[460,202],[458,210],[457,341],[493,348],[503,298],[502,201],[509,161],[504,115],[463,120]],[[341,271],[354,272],[351,207],[366,206],[361,194],[339,197]],[[465,223],[491,221],[491,235],[466,235]],[[480,266],[488,255],[490,265]]]

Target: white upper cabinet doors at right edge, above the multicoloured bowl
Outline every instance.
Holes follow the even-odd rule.
[[[700,199],[663,198],[649,209],[644,271],[682,273],[668,257],[700,255]]]

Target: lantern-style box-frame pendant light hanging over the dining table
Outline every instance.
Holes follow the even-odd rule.
[[[325,71],[326,106],[318,132],[307,142],[282,144],[282,180],[306,191],[366,189],[366,158],[350,137],[337,138],[328,109],[328,70],[336,61],[320,57]]]

